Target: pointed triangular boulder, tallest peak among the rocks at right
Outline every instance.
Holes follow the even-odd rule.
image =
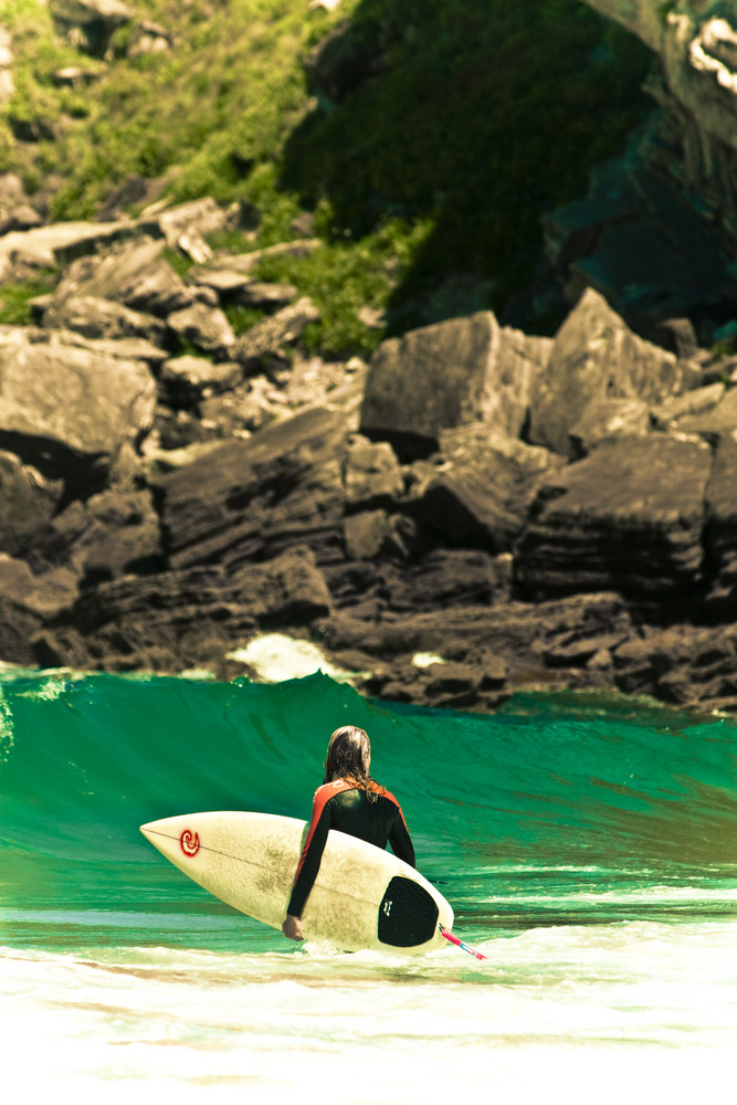
[[[560,327],[545,376],[530,403],[529,441],[575,455],[571,431],[581,440],[581,419],[612,399],[651,404],[699,382],[692,361],[678,361],[636,337],[601,295],[591,290]],[[585,435],[583,435],[585,436]]]

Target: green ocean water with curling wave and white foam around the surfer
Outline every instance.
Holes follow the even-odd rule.
[[[242,916],[139,824],[308,818],[366,728],[455,911],[422,957]],[[737,722],[526,693],[493,716],[276,684],[0,673],[9,1102],[693,1102],[734,1087]],[[503,1096],[499,1096],[503,1095]]]

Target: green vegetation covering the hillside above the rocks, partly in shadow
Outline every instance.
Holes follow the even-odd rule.
[[[313,296],[323,322],[308,340],[334,355],[381,338],[364,307],[389,333],[503,313],[531,281],[541,214],[580,196],[650,106],[645,49],[580,0],[135,7],[173,49],[126,56],[122,29],[103,64],[60,40],[38,0],[0,0],[15,56],[4,164],[31,192],[61,178],[53,219],[92,218],[133,173],[165,178],[171,202],[250,204],[257,246],[312,212],[324,246],[264,262],[259,276]],[[340,92],[328,97],[304,62],[344,23],[337,62],[325,62]],[[66,65],[102,75],[59,86]]]

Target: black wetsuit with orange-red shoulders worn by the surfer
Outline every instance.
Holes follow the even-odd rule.
[[[370,801],[365,790],[343,779],[326,782],[315,791],[309,831],[302,850],[286,911],[293,917],[302,916],[319,871],[330,829],[358,836],[359,840],[366,840],[377,848],[386,848],[388,841],[394,855],[414,866],[412,841],[399,802],[393,794],[388,790],[381,790],[377,792],[376,801]]]

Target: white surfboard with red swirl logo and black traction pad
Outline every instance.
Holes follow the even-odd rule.
[[[164,818],[143,834],[196,883],[241,913],[281,929],[307,822],[218,811]],[[362,840],[330,830],[302,915],[305,939],[343,951],[412,955],[446,947],[453,911],[419,871]]]

